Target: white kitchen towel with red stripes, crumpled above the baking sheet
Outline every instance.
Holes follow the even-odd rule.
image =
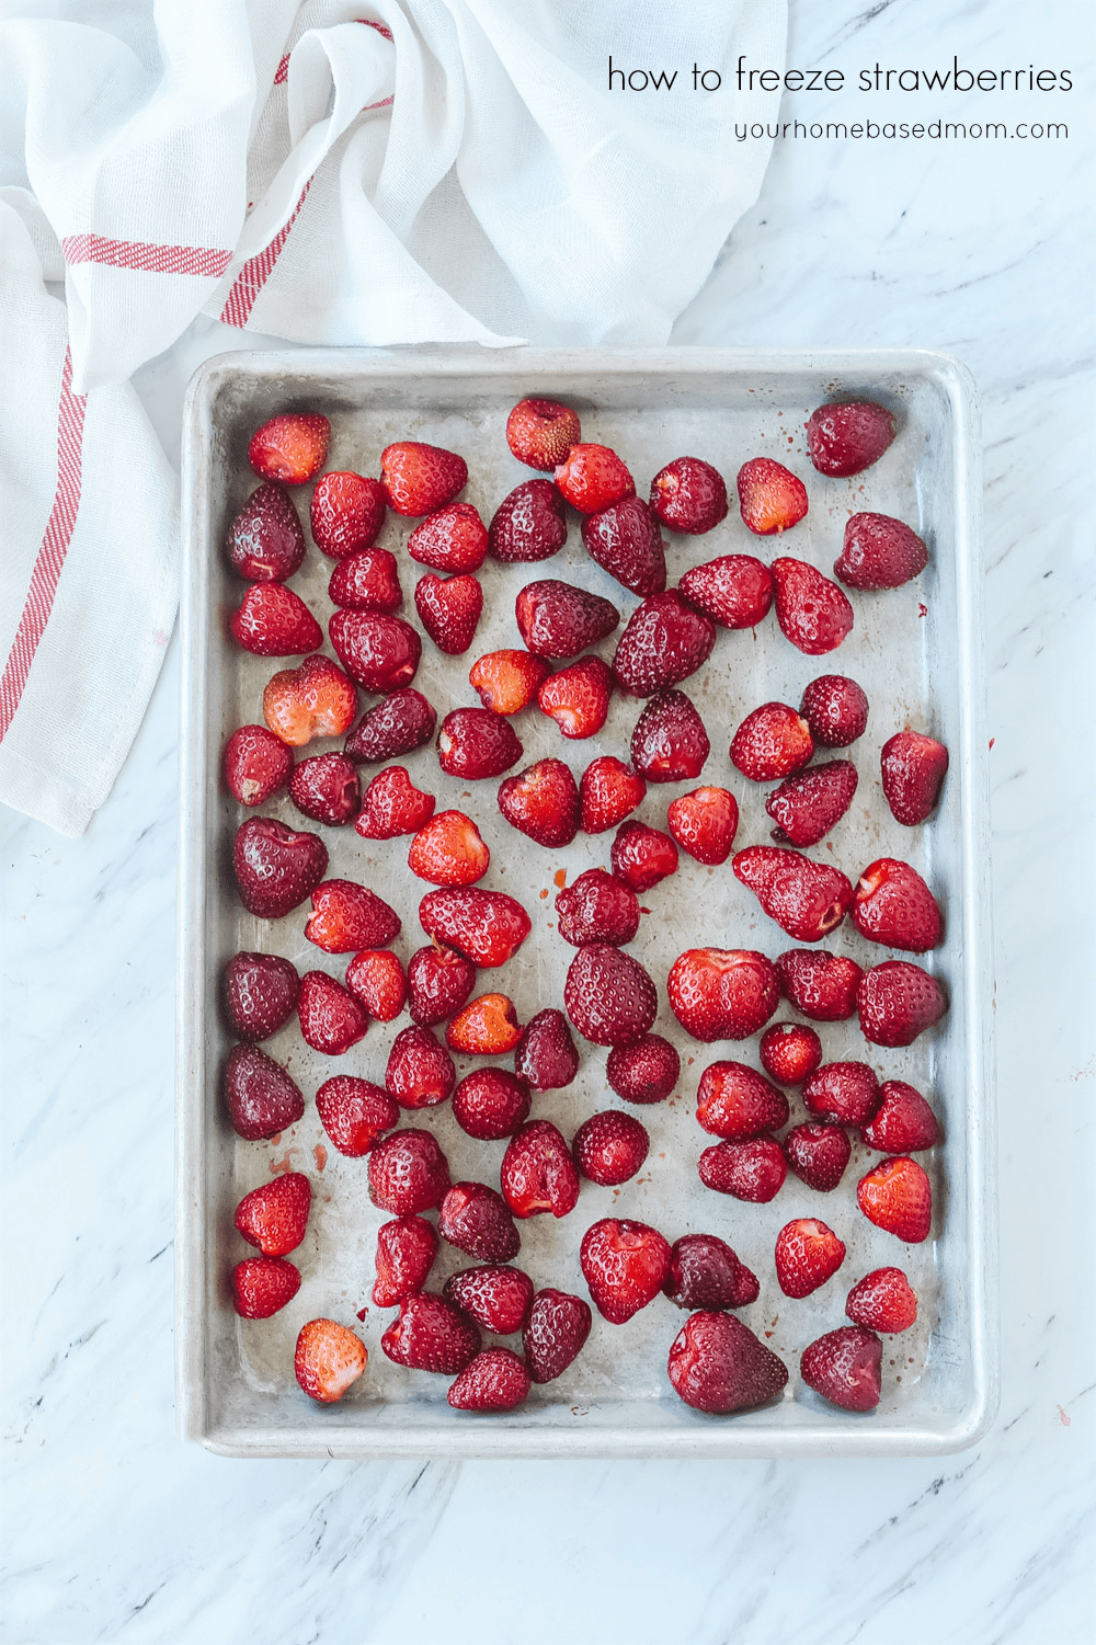
[[[0,799],[82,832],[156,678],[178,497],[133,372],[202,313],[321,344],[665,342],[757,197],[770,143],[734,125],[778,94],[736,64],[782,67],[785,13],[8,5]]]

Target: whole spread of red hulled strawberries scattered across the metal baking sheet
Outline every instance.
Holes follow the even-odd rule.
[[[464,459],[439,446],[397,441],[372,479],[321,474],[331,428],[319,415],[272,418],[250,441],[262,484],[227,531],[229,564],[247,581],[227,628],[244,651],[288,666],[260,693],[262,724],[237,727],[222,752],[227,793],[247,813],[232,872],[242,908],[258,923],[257,948],[224,971],[224,1015],[237,1041],[224,1068],[225,1110],[240,1138],[281,1142],[304,1115],[306,1094],[262,1041],[296,1020],[306,1046],[344,1058],[375,1035],[374,1025],[393,1023],[383,1084],[332,1073],[314,1091],[327,1143],[362,1161],[369,1196],[390,1217],[377,1234],[372,1301],[398,1309],[380,1337],[392,1365],[451,1379],[456,1410],[507,1411],[576,1360],[592,1309],[625,1328],[668,1298],[688,1311],[676,1337],[666,1331],[666,1372],[680,1398],[706,1413],[754,1408],[788,1383],[788,1367],[765,1341],[772,1331],[764,1339],[734,1313],[757,1301],[757,1275],[716,1232],[662,1230],[617,1214],[642,1209],[637,1184],[653,1158],[652,1133],[634,1109],[671,1104],[686,1073],[680,1050],[657,1031],[658,1013],[668,1003],[678,1043],[694,1051],[686,1068],[701,1064],[694,1170],[713,1221],[727,1199],[767,1204],[792,1176],[917,1245],[933,1226],[930,1176],[915,1158],[938,1143],[933,1107],[864,1059],[828,1058],[824,1025],[856,1022],[864,1056],[931,1030],[946,995],[918,959],[940,946],[943,915],[907,860],[849,862],[851,873],[836,860],[829,836],[864,798],[849,752],[867,725],[862,688],[844,674],[816,674],[792,702],[755,701],[737,725],[724,725],[701,670],[716,648],[749,643],[765,622],[805,658],[838,650],[857,620],[871,622],[880,591],[925,569],[928,548],[905,521],[857,512],[833,577],[795,554],[765,563],[739,551],[694,563],[670,586],[683,543],[729,515],[727,485],[711,462],[671,459],[643,500],[624,457],[584,441],[569,406],[523,400],[505,433],[513,457],[540,477],[513,487],[490,520],[461,498]],[[871,401],[828,403],[806,424],[810,462],[824,477],[866,472],[894,439],[890,411]],[[323,651],[316,612],[288,587],[306,563],[293,487],[311,480],[311,538],[334,563],[334,656]],[[803,479],[772,457],[744,462],[736,492],[742,526],[759,538],[783,540],[810,510]],[[528,572],[563,549],[574,515],[597,586],[614,579],[620,595]],[[377,546],[382,531],[392,548]],[[415,684],[425,646],[428,656],[472,651],[484,617],[477,572],[489,558],[509,568],[512,643],[476,655],[467,681],[477,701],[431,702]],[[418,627],[402,615],[408,572]],[[846,589],[864,595],[857,607]],[[625,742],[586,760],[574,748],[578,767],[568,760],[629,699]],[[553,727],[556,753],[528,758],[522,716]],[[402,763],[411,757],[415,775]],[[431,762],[436,785],[461,785],[448,786],[467,809],[438,809]],[[895,725],[877,780],[894,822],[915,829],[931,818],[946,767],[946,748],[926,729]],[[775,826],[770,839],[744,844],[736,836],[752,785],[773,785],[764,809]],[[283,816],[257,814],[272,801]],[[494,869],[517,869],[509,890],[484,885],[499,827],[512,849]],[[405,864],[406,900],[393,906],[362,875],[332,873],[329,842],[339,836],[326,831],[342,831],[359,857],[375,850]],[[556,872],[555,920],[533,936],[527,903],[536,854],[579,836],[606,836],[604,864],[569,883]],[[666,908],[690,862],[750,893],[772,952],[716,946],[729,933],[704,931],[701,901],[691,913],[698,946],[680,951],[666,974],[652,974],[643,928],[658,915],[643,898],[653,893]],[[263,946],[290,916],[314,951],[316,964],[303,971]],[[415,924],[426,941],[411,938],[403,962],[393,943]],[[823,946],[843,926],[875,944],[879,959],[861,966]],[[517,956],[530,936],[563,946],[566,979],[558,999],[541,999],[522,1022],[507,967],[523,962]],[[805,1022],[775,1020],[782,1003]],[[754,1036],[760,1068],[739,1059]],[[716,1041],[734,1054],[704,1063],[703,1048]],[[607,1051],[607,1092],[586,1104],[568,1138],[543,1104],[581,1081],[589,1048]],[[494,1061],[469,1068],[482,1058]],[[625,1107],[604,1105],[609,1092]],[[479,1145],[469,1158],[490,1158],[490,1181],[454,1179],[457,1160],[425,1112],[443,1105]],[[841,1196],[852,1138],[880,1160]],[[257,1250],[230,1275],[244,1319],[272,1318],[301,1285],[290,1257],[309,1232],[313,1184],[301,1171],[273,1170],[235,1211],[235,1229]],[[564,1288],[536,1288],[515,1262],[523,1226],[533,1217],[555,1226],[597,1188],[612,1191],[614,1214],[586,1227],[578,1270],[561,1265],[553,1275]],[[848,1234],[848,1217],[828,1214]],[[749,1222],[741,1226],[749,1237]],[[472,1265],[431,1288],[446,1247]],[[788,1219],[767,1253],[792,1303],[828,1286],[846,1257],[848,1240],[816,1216]],[[589,1303],[573,1290],[579,1283]],[[917,1295],[902,1268],[879,1267],[857,1275],[844,1316],[849,1324],[803,1346],[801,1382],[831,1405],[872,1410],[880,1334],[913,1326]],[[321,1403],[342,1398],[367,1360],[360,1334],[337,1319],[313,1318],[300,1331],[295,1374]]]

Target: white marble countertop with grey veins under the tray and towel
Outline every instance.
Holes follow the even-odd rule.
[[[1040,15],[1038,39],[1017,5],[805,12],[790,64],[902,66],[928,41],[941,59],[1037,53],[1080,69],[1080,7]],[[1010,117],[1035,118],[1035,102],[1017,97]],[[933,114],[963,118],[961,104]],[[788,99],[787,117],[805,105]],[[851,95],[828,118],[852,118],[838,105]],[[1055,118],[1066,114],[1070,138],[1053,143],[778,141],[675,331],[683,344],[943,347],[981,385],[1002,1308],[991,1433],[938,1461],[737,1464],[239,1462],[181,1444],[173,642],[87,836],[2,819],[12,1645],[1091,1638],[1091,1209],[1071,1171],[1093,1069],[1091,873],[1073,882],[1093,816],[1080,755],[1088,156],[1081,109]],[[193,365],[255,341],[202,322],[142,373],[170,451]]]

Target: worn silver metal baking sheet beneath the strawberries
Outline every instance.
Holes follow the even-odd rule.
[[[731,767],[727,744],[739,721],[759,702],[798,702],[808,679],[848,673],[871,701],[866,735],[849,750],[861,783],[851,811],[815,847],[831,854],[856,878],[879,855],[915,864],[946,913],[946,939],[925,964],[940,974],[951,1008],[943,1023],[907,1050],[867,1046],[856,1020],[821,1025],[824,1058],[861,1058],[880,1077],[908,1079],[925,1091],[943,1122],[943,1143],[926,1160],[935,1189],[930,1239],[905,1247],[872,1227],[856,1209],[854,1186],[880,1156],[854,1143],[844,1181],[820,1196],[788,1176],[765,1206],[741,1204],[704,1189],[696,1161],[714,1142],[694,1119],[696,1082],[718,1058],[757,1061],[757,1040],[701,1046],[685,1035],[665,997],[675,956],[690,946],[759,948],[775,957],[795,946],[731,873],[706,869],[685,854],[678,873],[645,893],[640,934],[630,946],[660,989],[657,1031],[681,1051],[683,1076],[670,1102],[634,1110],[652,1138],[640,1176],[620,1189],[583,1184],[579,1204],[556,1222],[520,1224],[515,1258],[536,1286],[556,1285],[586,1295],[578,1267],[583,1232],[597,1217],[620,1214],[652,1222],[673,1240],[686,1232],[716,1232],[755,1270],[757,1303],[741,1318],[790,1369],[783,1398],[734,1416],[688,1410],[666,1379],[666,1352],[686,1314],[657,1298],[627,1326],[594,1313],[589,1342],[556,1382],[535,1388],[505,1416],[449,1410],[448,1379],[392,1365],[380,1336],[393,1311],[374,1308],[375,1234],[388,1214],[369,1199],[367,1161],[347,1160],[327,1145],[311,1097],[334,1073],[359,1073],[383,1082],[392,1040],[406,1026],[374,1023],[342,1058],[313,1053],[296,1022],[265,1043],[298,1081],[306,1112],[275,1143],[242,1142],[221,1099],[221,1068],[229,1035],[219,1012],[225,961],[237,949],[285,954],[298,971],[326,969],[342,977],[346,959],[324,956],[304,941],[304,910],[281,921],[244,911],[230,870],[235,827],[245,814],[222,790],[219,758],[235,725],[260,721],[262,688],[291,663],[248,656],[225,637],[227,614],[239,604],[240,581],[227,568],[222,541],[234,512],[257,484],[247,466],[250,433],[275,411],[318,410],[332,423],[329,467],[377,474],[380,452],[410,438],[464,454],[464,497],[490,520],[499,502],[530,477],[509,452],[505,418],[515,400],[548,395],[574,405],[583,438],[614,446],[635,474],[640,495],[650,477],[685,452],[706,457],[732,489],[739,466],[752,456],[790,464],[808,484],[806,520],[785,543],[752,536],[732,507],[703,538],[670,538],[670,584],[693,564],[722,553],[772,559],[785,551],[829,571],[844,520],[871,508],[910,521],[928,541],[926,572],[903,589],[854,594],[856,627],[839,651],[808,658],[780,633],[770,615],[759,628],[719,630],[708,665],[685,683],[713,744],[701,781],[729,786],[741,804],[736,849],[764,842],[770,785],[747,783]],[[803,424],[824,398],[859,393],[889,405],[900,433],[885,456],[849,480],[823,479],[810,467]],[[306,513],[308,489],[296,494]],[[194,377],[184,423],[183,497],[186,510],[183,592],[183,753],[181,753],[181,913],[179,913],[179,1063],[178,1063],[178,1410],[179,1428],[214,1451],[232,1456],[880,1456],[946,1453],[971,1444],[996,1408],[994,1199],[989,837],[986,737],[982,729],[982,642],[979,571],[978,396],[966,368],[926,350],[737,352],[639,350],[311,350],[232,354],[207,362]],[[390,517],[380,546],[402,553],[413,521]],[[402,559],[405,614],[421,568]],[[326,625],[331,561],[309,540],[309,554],[293,587]],[[622,620],[637,599],[584,553],[578,523],[561,554],[535,566],[487,561],[484,617],[462,658],[444,658],[430,640],[415,684],[441,716],[476,704],[467,670],[476,656],[520,643],[513,597],[533,577],[579,582],[612,599]],[[599,646],[612,656],[615,637]],[[627,750],[640,704],[615,696],[599,737],[564,740],[535,709],[513,722],[525,745],[520,767],[545,755],[564,758],[576,776],[602,752]],[[936,816],[920,829],[900,827],[879,788],[879,748],[905,725],[946,742],[951,768]],[[337,744],[314,744],[321,752]],[[444,776],[433,747],[406,763],[413,781],[438,796],[438,809],[467,809],[492,849],[485,887],[517,895],[533,918],[533,933],[485,984],[512,995],[527,1022],[545,1003],[561,1003],[573,956],[555,933],[558,877],[607,865],[612,834],[579,834],[566,850],[543,850],[515,834],[495,806],[495,783],[457,783]],[[520,768],[520,767],[515,767]],[[369,775],[369,768],[367,768]],[[693,785],[650,785],[637,816],[665,826],[666,803]],[[263,814],[303,822],[288,798]],[[362,841],[352,827],[319,829],[331,852],[329,875],[362,880],[403,920],[395,949],[403,961],[421,946],[418,900],[430,887],[406,867],[406,839]],[[826,944],[867,966],[885,951],[864,943],[851,921]],[[795,1020],[783,1008],[778,1018]],[[619,1105],[604,1079],[607,1053],[579,1041],[576,1082],[533,1101],[533,1115],[555,1120],[566,1137],[602,1107]],[[462,1074],[471,1059],[457,1063]],[[793,1097],[793,1122],[803,1117]],[[504,1143],[466,1137],[444,1109],[408,1115],[436,1132],[456,1179],[497,1184]],[[232,1227],[244,1193],[272,1170],[295,1168],[313,1183],[308,1235],[293,1262],[303,1277],[296,1298],[268,1321],[242,1321],[229,1301],[229,1273],[250,1252]],[[793,1216],[821,1216],[846,1240],[841,1272],[803,1301],[777,1285],[772,1249]],[[439,1288],[471,1258],[443,1244],[431,1273]],[[869,1268],[899,1263],[920,1296],[913,1331],[884,1339],[884,1395],[875,1411],[839,1411],[805,1387],[798,1355],[823,1331],[844,1321],[844,1295]],[[359,1309],[367,1309],[364,1321]],[[308,1400],[293,1377],[300,1326],[329,1314],[360,1331],[369,1367],[336,1406]]]

